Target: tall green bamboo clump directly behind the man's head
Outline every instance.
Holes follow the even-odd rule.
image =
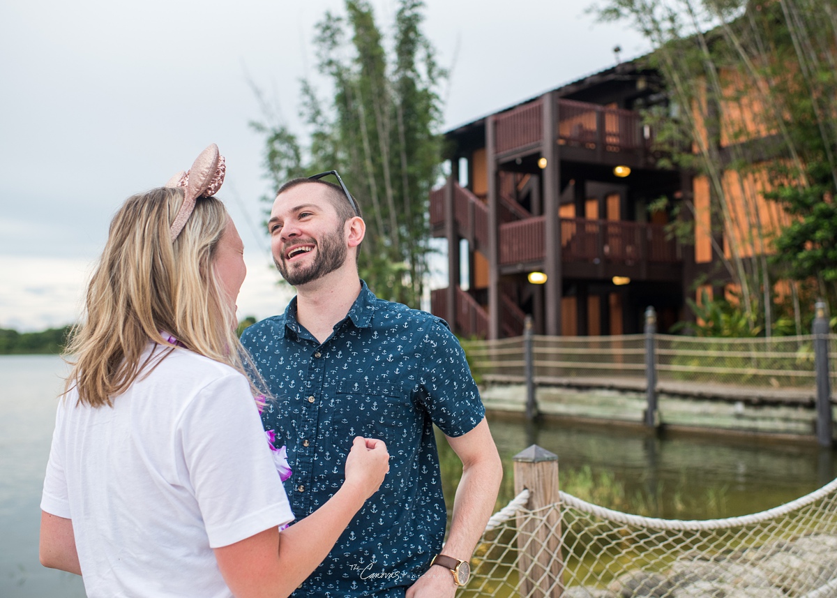
[[[321,100],[311,80],[303,81],[307,146],[297,152],[285,127],[257,129],[275,183],[341,173],[367,221],[362,277],[378,296],[412,307],[420,305],[428,273],[429,192],[442,147],[438,90],[446,77],[421,32],[423,8],[418,0],[398,2],[392,40],[367,0],[347,0],[345,16],[326,13],[316,24],[316,66],[331,97]]]

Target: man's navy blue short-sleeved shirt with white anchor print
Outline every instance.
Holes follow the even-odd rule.
[[[262,420],[287,446],[297,519],[341,487],[355,436],[383,439],[390,454],[380,489],[294,598],[403,598],[444,540],[433,424],[462,436],[485,417],[460,343],[444,320],[378,299],[365,282],[325,343],[297,322],[296,298],[241,341],[276,398]]]

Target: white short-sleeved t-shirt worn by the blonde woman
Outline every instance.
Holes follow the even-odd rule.
[[[113,408],[77,399],[41,508],[72,519],[88,597],[232,596],[212,549],[294,518],[244,376],[176,348]]]

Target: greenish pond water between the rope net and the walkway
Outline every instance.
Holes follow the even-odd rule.
[[[641,430],[529,423],[489,415],[506,475],[497,508],[514,497],[512,457],[537,444],[558,456],[561,489],[628,513],[706,519],[757,513],[813,492],[837,476],[834,451],[752,437],[649,436]],[[445,496],[461,465],[439,442]]]

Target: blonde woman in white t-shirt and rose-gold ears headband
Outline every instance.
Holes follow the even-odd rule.
[[[40,555],[90,598],[290,595],[388,471],[383,442],[356,438],[340,490],[280,531],[294,516],[235,335],[244,247],[211,197],[223,172],[210,146],[126,200],[68,348]]]

